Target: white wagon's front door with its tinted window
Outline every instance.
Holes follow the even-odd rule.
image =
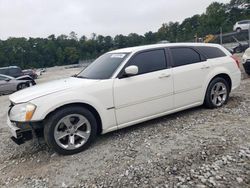
[[[130,65],[138,67],[138,74],[114,81],[114,104],[119,128],[173,108],[172,70],[167,69],[164,49],[140,52],[131,58],[125,68]]]

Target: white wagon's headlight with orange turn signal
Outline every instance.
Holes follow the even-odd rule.
[[[10,111],[10,120],[18,122],[30,121],[35,110],[36,105],[32,103],[17,104]]]

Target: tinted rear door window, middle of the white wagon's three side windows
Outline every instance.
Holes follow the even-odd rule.
[[[201,62],[200,54],[191,48],[171,48],[174,67]]]

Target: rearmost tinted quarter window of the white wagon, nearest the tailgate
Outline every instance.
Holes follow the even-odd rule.
[[[201,53],[203,53],[206,58],[213,59],[218,57],[224,57],[226,54],[216,47],[199,46],[196,47]]]

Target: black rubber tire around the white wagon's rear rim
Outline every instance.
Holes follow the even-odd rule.
[[[223,102],[221,103],[221,104],[219,104],[219,105],[215,105],[214,103],[213,103],[213,100],[212,100],[212,89],[215,87],[215,85],[216,84],[218,84],[218,83],[222,83],[222,84],[224,84],[224,86],[225,86],[225,89],[226,89],[226,97],[224,98],[225,100],[223,100]],[[206,91],[206,95],[205,95],[205,100],[204,100],[204,105],[207,107],[207,108],[218,108],[218,107],[221,107],[221,106],[223,106],[224,104],[226,104],[227,103],[227,101],[228,101],[228,98],[229,98],[229,93],[230,93],[230,91],[229,91],[229,84],[228,84],[228,82],[224,79],[224,78],[221,78],[221,77],[216,77],[216,78],[214,78],[210,83],[209,83],[209,85],[208,85],[208,87],[207,87],[207,91]]]

